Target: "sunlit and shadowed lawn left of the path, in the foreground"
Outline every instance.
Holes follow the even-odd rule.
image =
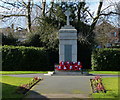
[[[9,100],[10,98],[20,100],[23,98],[23,94],[16,93],[16,88],[21,84],[29,83],[31,80],[32,78],[2,76],[2,80],[0,80],[2,83],[2,100]]]

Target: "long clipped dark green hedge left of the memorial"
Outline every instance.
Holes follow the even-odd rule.
[[[24,46],[2,46],[2,70],[44,71],[53,70],[49,54],[44,48]]]

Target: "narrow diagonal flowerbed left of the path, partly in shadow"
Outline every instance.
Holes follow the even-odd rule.
[[[31,82],[29,82],[27,84],[21,84],[17,88],[16,92],[26,94],[35,84],[37,84],[41,80],[42,80],[42,78],[34,77]]]

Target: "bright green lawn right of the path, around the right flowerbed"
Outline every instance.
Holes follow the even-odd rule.
[[[112,78],[102,78],[103,79],[103,84],[105,89],[107,90],[106,93],[93,93],[92,97],[93,98],[101,98],[100,100],[103,100],[103,98],[112,98],[114,100],[118,100],[118,95],[120,93],[118,92],[118,77],[112,77]]]

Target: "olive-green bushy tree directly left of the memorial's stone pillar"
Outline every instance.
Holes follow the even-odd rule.
[[[54,19],[49,19],[47,16],[42,19],[42,22],[39,20],[36,34],[40,35],[44,47],[58,50],[58,28],[54,26],[52,21],[54,22]]]

